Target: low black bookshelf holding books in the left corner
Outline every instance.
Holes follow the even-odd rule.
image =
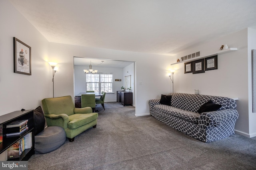
[[[28,119],[28,130],[20,135],[6,137],[6,125],[16,120]],[[11,147],[14,143],[22,139],[26,134],[32,132],[32,147],[25,149],[19,158],[11,160],[28,160],[34,153],[34,110],[14,111],[0,116],[0,125],[3,125],[3,142],[0,143],[0,154]]]

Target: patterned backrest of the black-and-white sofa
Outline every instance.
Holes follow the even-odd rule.
[[[168,95],[172,95],[171,106],[187,111],[197,112],[209,100],[212,100],[214,104],[222,105],[218,110],[236,109],[236,101],[231,98],[185,93],[171,93]]]

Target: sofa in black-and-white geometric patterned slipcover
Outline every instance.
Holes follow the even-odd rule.
[[[150,114],[162,123],[203,142],[216,141],[234,134],[238,118],[235,100],[200,94],[168,95],[172,96],[171,106],[160,104],[160,99],[149,101]],[[217,111],[197,113],[208,100],[222,106]]]

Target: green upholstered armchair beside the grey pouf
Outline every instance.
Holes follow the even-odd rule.
[[[42,108],[47,125],[62,127],[70,142],[97,125],[98,113],[92,113],[91,107],[76,108],[71,96],[43,99]]]

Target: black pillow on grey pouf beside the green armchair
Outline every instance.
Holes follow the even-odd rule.
[[[35,135],[44,130],[45,119],[41,106],[34,109],[34,132]]]

